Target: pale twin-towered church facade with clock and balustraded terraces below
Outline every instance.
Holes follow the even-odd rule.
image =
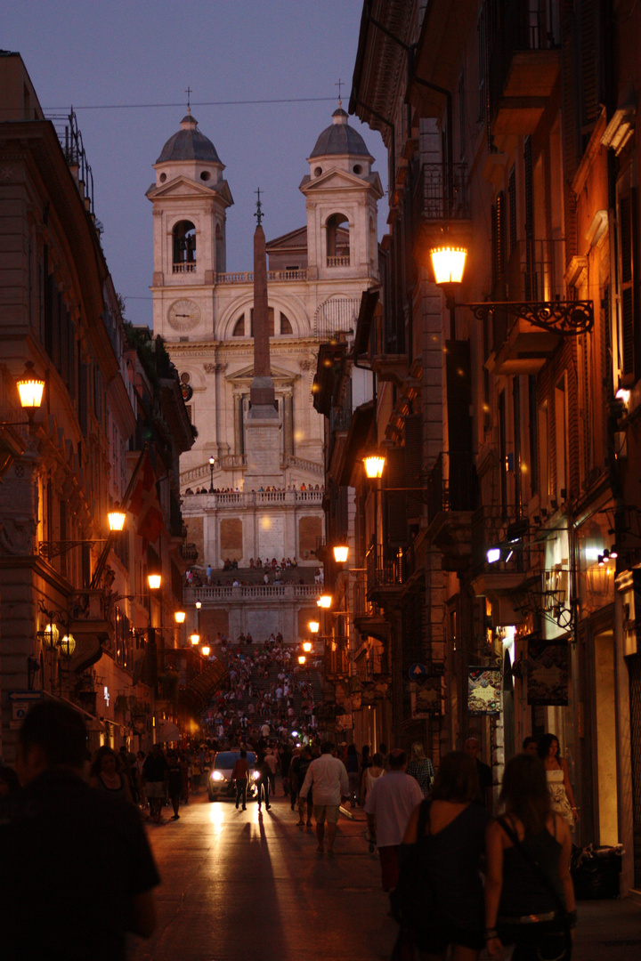
[[[257,618],[263,625],[265,611],[278,601],[272,627],[298,636],[301,611],[317,593],[313,582],[296,584],[301,596],[284,604],[284,597],[271,597],[271,583],[260,591],[253,586],[251,597],[243,585],[234,588],[241,595],[232,603],[231,578],[222,568],[228,559],[249,568],[258,558],[295,558],[299,568],[318,565],[324,426],[312,405],[316,357],[333,332],[356,328],[362,291],[378,283],[382,197],[373,158],[347,113],[339,107],[332,120],[311,151],[300,185],[307,223],[266,245],[278,415],[278,430],[270,436],[279,449],[276,472],[272,467],[268,477],[251,470],[248,475],[254,274],[226,269],[226,219],[234,200],[224,164],[190,113],[164,145],[154,164],[155,184],[147,190],[154,224],[154,331],[180,373],[198,431],[181,459],[181,493],[195,566],[213,569],[210,585],[198,589],[201,629],[210,611],[210,632],[216,628],[234,636],[252,629]],[[296,593],[293,586],[284,584],[283,590]]]

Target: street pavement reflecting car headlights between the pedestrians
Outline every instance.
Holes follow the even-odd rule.
[[[317,854],[315,831],[297,820],[282,793],[261,815],[254,802],[243,813],[201,794],[181,808],[180,821],[150,826],[162,878],[159,926],[149,941],[136,940],[131,958],[388,958],[397,927],[387,917],[364,816],[341,816],[333,856]],[[579,902],[574,961],[636,961],[640,945],[638,902]]]

